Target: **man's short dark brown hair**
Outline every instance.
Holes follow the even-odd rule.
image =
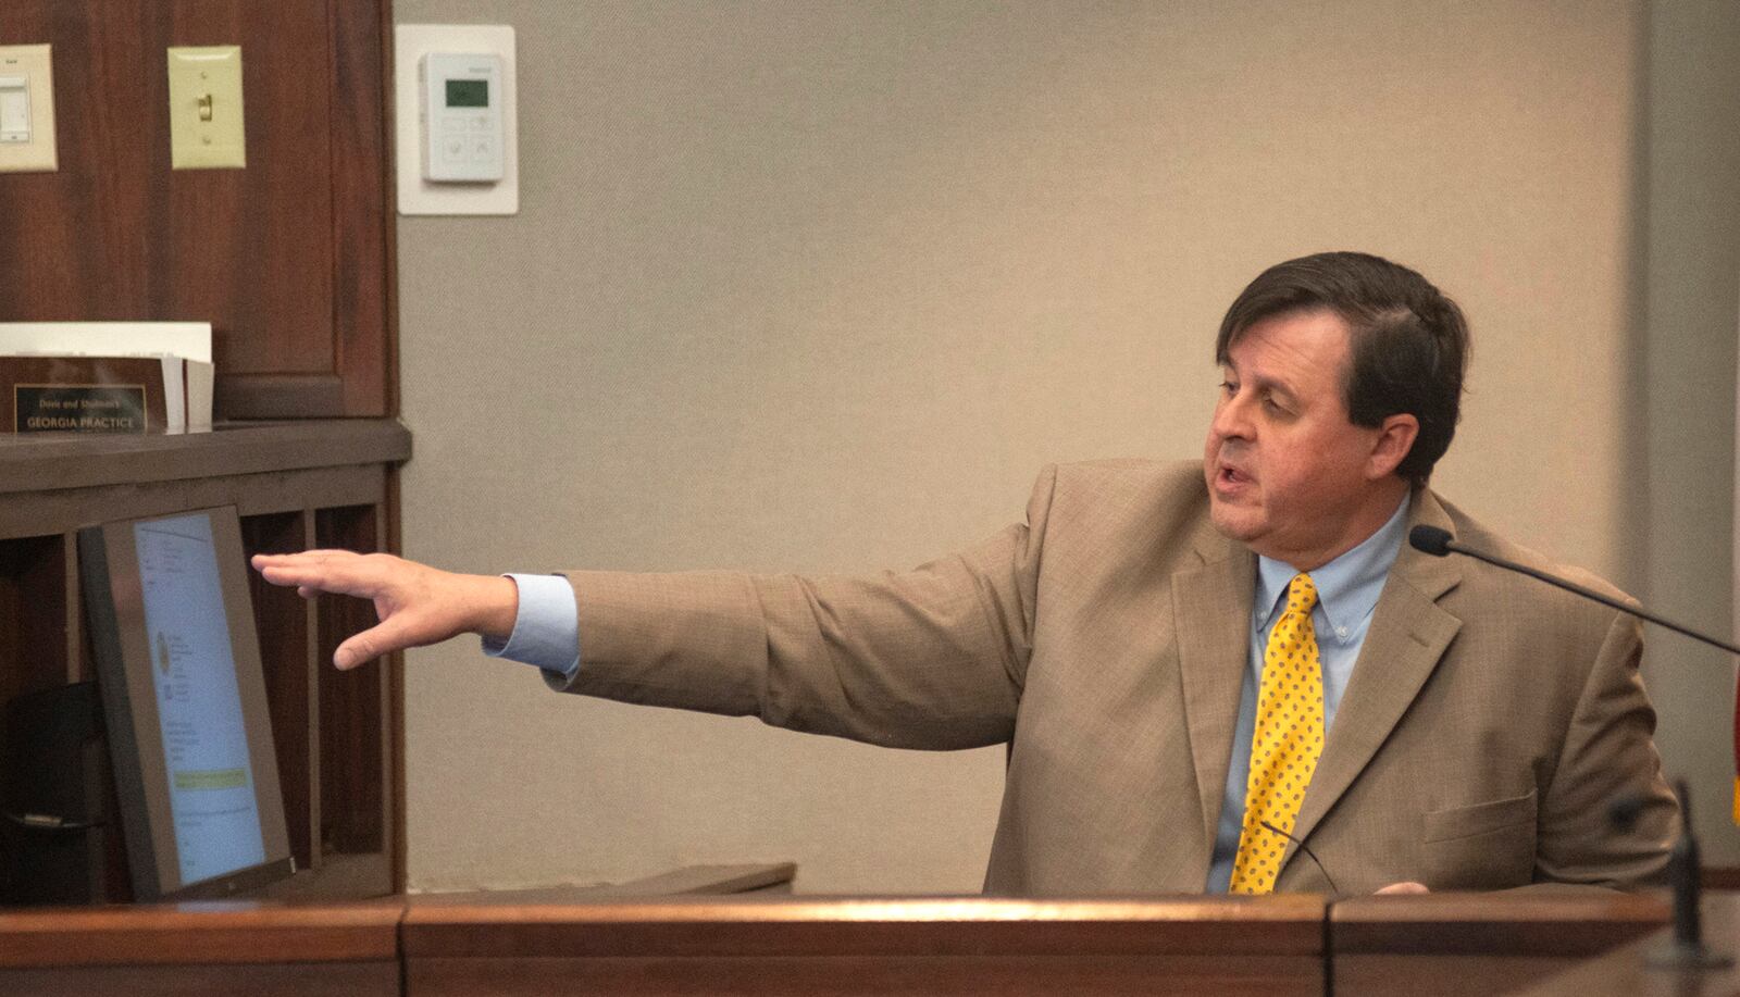
[[[1355,426],[1382,426],[1406,412],[1420,419],[1395,473],[1425,485],[1449,449],[1469,369],[1462,308],[1413,270],[1366,252],[1319,252],[1270,266],[1227,310],[1215,362],[1251,325],[1296,311],[1335,311],[1348,329],[1342,400]]]

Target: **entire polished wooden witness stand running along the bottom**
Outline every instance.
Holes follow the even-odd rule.
[[[567,900],[539,891],[21,910],[0,913],[0,992],[1484,995],[1578,973],[1667,917],[1656,900],[1620,894],[1328,903],[644,893],[778,887],[790,875],[713,867]]]

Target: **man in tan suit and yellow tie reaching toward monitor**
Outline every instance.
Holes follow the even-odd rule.
[[[1418,273],[1319,254],[1228,310],[1201,466],[1049,468],[1025,524],[907,574],[572,572],[552,611],[529,576],[256,565],[376,600],[341,668],[477,632],[564,691],[1009,743],[992,893],[1632,886],[1676,814],[1636,621],[1402,545],[1429,524],[1552,567],[1427,487],[1465,355]],[[1606,823],[1622,797],[1644,800],[1629,835]]]

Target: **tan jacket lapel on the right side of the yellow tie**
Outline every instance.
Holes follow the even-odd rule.
[[[1441,529],[1453,525],[1444,506],[1429,491],[1416,492],[1408,513],[1409,531],[1420,524]],[[1317,773],[1305,792],[1293,837],[1310,835],[1335,807],[1437,668],[1444,649],[1462,628],[1460,619],[1437,607],[1437,599],[1460,579],[1462,569],[1455,560],[1402,546],[1373,609],[1366,642],[1324,741]],[[1296,847],[1288,846],[1282,868],[1293,851]]]

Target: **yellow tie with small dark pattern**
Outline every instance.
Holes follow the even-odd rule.
[[[1314,606],[1317,586],[1310,576],[1293,576],[1288,607],[1268,632],[1263,651],[1251,774],[1244,783],[1244,830],[1228,893],[1274,893],[1288,839],[1262,825],[1267,821],[1293,833],[1305,786],[1322,753],[1322,665],[1310,625]]]

